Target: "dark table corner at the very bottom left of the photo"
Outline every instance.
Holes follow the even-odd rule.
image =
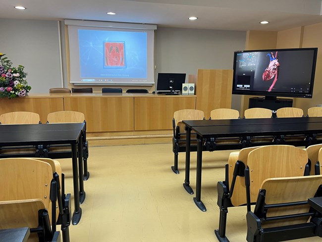
[[[0,242],[27,242],[29,235],[28,227],[0,230]]]

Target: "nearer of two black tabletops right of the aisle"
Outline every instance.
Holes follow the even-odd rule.
[[[259,135],[287,135],[322,133],[321,122],[261,123],[245,125],[192,126],[198,135],[209,137],[236,137]]]

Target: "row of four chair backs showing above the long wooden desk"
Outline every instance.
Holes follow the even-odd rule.
[[[62,87],[55,87],[50,88],[49,93],[93,93],[92,87],[82,87],[76,88],[73,87],[71,90],[69,88],[62,88]],[[102,93],[122,93],[122,88],[110,88],[104,87],[102,88]],[[147,89],[128,89],[126,90],[127,93],[149,93]]]

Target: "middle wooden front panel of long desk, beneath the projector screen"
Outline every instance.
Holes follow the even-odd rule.
[[[133,97],[64,97],[65,110],[85,115],[88,132],[129,131],[134,129]]]

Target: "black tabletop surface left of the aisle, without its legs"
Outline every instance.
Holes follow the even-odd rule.
[[[85,123],[0,125],[0,146],[74,144]]]

